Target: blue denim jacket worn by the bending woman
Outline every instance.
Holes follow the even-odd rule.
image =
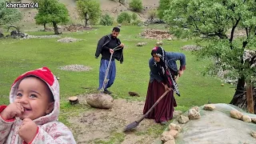
[[[186,66],[185,54],[166,52],[167,66],[170,68],[170,70],[173,70],[174,72],[178,72],[177,63],[176,63],[177,60],[179,60],[180,62],[179,70],[184,70]],[[158,82],[162,82],[163,79],[158,72],[157,66],[154,65],[154,58],[150,58],[149,65],[150,65],[150,82],[153,82],[154,79],[157,80]]]

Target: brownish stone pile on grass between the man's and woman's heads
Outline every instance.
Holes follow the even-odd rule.
[[[150,38],[150,39],[170,39],[173,38],[173,35],[171,35],[168,31],[165,30],[145,30],[142,33],[139,34],[142,38]]]

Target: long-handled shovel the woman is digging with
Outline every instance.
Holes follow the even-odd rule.
[[[166,94],[169,92],[170,90],[166,90],[166,92],[164,94],[161,95],[160,98],[158,98],[157,102],[154,102],[154,105],[150,108],[150,110],[148,110],[146,112],[146,114],[144,114],[141,118],[139,118],[137,121],[130,123],[128,126],[126,126],[126,128],[124,129],[124,131],[127,130],[132,130],[135,127],[138,126],[139,122],[142,122],[142,120],[146,117],[147,114],[150,114],[150,112],[154,109],[155,106],[157,106],[158,102],[161,101],[162,98],[164,98],[166,96]]]

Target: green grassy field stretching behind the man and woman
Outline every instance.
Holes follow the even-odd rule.
[[[60,120],[68,125],[64,116],[66,112],[78,114],[86,107],[70,106],[66,99],[77,94],[92,93],[98,88],[98,67],[100,58],[94,58],[98,39],[110,34],[112,26],[97,26],[94,30],[76,33],[64,33],[61,38],[80,38],[82,41],[73,43],[57,42],[59,38],[30,38],[30,39],[0,39],[0,105],[9,103],[10,86],[18,75],[27,70],[48,66],[60,78],[61,107]],[[126,98],[134,101],[145,101],[149,82],[150,51],[156,40],[138,38],[142,31],[138,26],[122,26],[119,38],[126,45],[123,64],[117,64],[117,77],[110,87],[114,98]],[[33,35],[52,35],[53,32],[28,32]],[[135,46],[138,42],[147,42],[146,46]],[[201,72],[209,60],[197,61],[190,51],[180,48],[194,44],[193,41],[174,40],[163,41],[166,51],[186,54],[186,70],[178,79],[181,97],[176,97],[176,110],[187,110],[190,106],[202,106],[208,101],[229,103],[234,94],[234,88],[229,84],[221,86],[218,78],[202,76]],[[88,72],[72,72],[58,70],[59,66],[79,64],[90,66]],[[88,87],[90,89],[83,89]],[[128,91],[136,91],[141,97],[130,97]],[[69,115],[70,116],[70,115]]]

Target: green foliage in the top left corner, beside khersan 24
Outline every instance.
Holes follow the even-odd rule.
[[[0,26],[14,24],[22,19],[22,14],[18,9],[6,8],[6,0],[0,0]]]

